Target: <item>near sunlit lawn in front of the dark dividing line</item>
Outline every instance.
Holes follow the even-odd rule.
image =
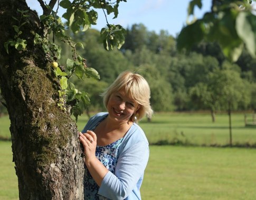
[[[256,149],[150,146],[146,200],[254,200]],[[11,142],[0,142],[0,199],[18,199]]]

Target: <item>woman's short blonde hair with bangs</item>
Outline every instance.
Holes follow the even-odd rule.
[[[150,106],[150,88],[146,79],[139,75],[129,71],[122,72],[117,79],[106,89],[105,92],[101,94],[103,97],[103,103],[107,108],[110,95],[125,90],[126,94],[139,104],[139,109],[136,112],[135,116],[130,118],[130,121],[138,121],[143,118],[145,115],[148,118],[151,118],[153,110]]]

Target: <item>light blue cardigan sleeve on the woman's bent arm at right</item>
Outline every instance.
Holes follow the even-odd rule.
[[[110,199],[125,199],[143,176],[149,157],[146,141],[140,141],[121,153],[115,174],[108,172],[102,180],[98,194]]]

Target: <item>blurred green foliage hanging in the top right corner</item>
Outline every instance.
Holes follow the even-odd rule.
[[[194,8],[201,8],[202,3],[202,0],[191,1],[188,16],[194,15]],[[219,43],[223,54],[231,61],[238,60],[244,45],[255,57],[256,16],[251,3],[248,0],[213,0],[210,12],[182,29],[177,38],[178,49],[191,49],[196,43],[208,41]]]

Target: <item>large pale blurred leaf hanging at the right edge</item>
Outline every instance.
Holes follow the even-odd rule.
[[[250,21],[250,18],[252,18],[252,22]],[[246,48],[248,49],[249,53],[252,57],[255,57],[255,30],[256,24],[255,24],[256,17],[254,15],[251,15],[249,13],[240,12],[238,17],[236,18],[236,31],[239,35],[239,37],[243,40],[243,42],[246,45]],[[253,27],[254,26],[254,27]]]

